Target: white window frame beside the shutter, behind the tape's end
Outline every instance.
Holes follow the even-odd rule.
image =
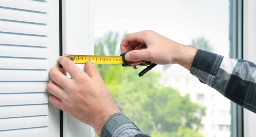
[[[62,0],[63,55],[94,54],[92,4],[91,0]],[[84,70],[84,65],[78,64],[78,67]],[[82,136],[95,137],[95,132],[63,112],[63,137]]]

